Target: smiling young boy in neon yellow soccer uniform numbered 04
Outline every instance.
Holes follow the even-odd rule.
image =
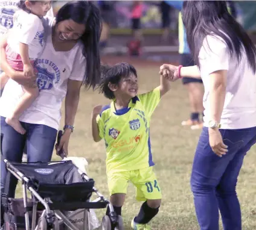
[[[161,97],[170,90],[170,81],[161,76],[159,87],[137,96],[137,73],[133,66],[118,63],[103,71],[101,93],[112,99],[92,111],[92,136],[106,144],[107,182],[110,202],[121,216],[128,181],[136,187],[136,199],[144,201],[132,220],[133,229],[150,229],[147,223],[159,211],[161,190],[150,147],[149,123]],[[107,210],[109,214],[109,210]]]

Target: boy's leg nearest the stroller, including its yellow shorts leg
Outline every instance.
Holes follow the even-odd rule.
[[[110,193],[110,203],[113,205],[115,213],[121,216],[121,208],[127,193],[127,185],[129,181],[129,172],[107,173],[107,185]],[[109,207],[107,207],[106,215],[109,215]]]

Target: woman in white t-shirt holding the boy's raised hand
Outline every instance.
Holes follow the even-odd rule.
[[[256,143],[256,48],[225,1],[186,1],[183,21],[197,66],[164,64],[174,81],[202,78],[204,127],[194,156],[191,190],[201,230],[241,230],[235,187],[243,158]]]

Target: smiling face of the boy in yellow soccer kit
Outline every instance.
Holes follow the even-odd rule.
[[[134,98],[138,93],[138,79],[134,75],[121,78],[116,91],[120,96]]]

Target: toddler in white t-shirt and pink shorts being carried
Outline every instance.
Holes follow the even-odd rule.
[[[5,48],[7,61],[14,70],[23,71],[25,76],[34,75],[34,61],[43,48],[43,23],[42,17],[51,8],[51,1],[20,1],[18,10],[14,14],[13,28],[8,36],[8,45]],[[36,71],[36,70],[35,70]],[[0,87],[8,81],[5,73],[0,75]],[[20,134],[25,134],[25,129],[19,122],[19,117],[30,107],[39,94],[37,87],[23,87],[24,95],[10,117],[5,122]]]

